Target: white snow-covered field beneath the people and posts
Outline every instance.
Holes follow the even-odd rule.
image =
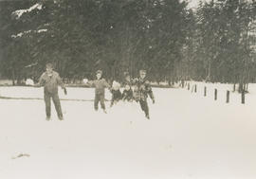
[[[246,104],[237,93],[227,104],[232,85],[207,84],[206,98],[205,85],[198,83],[196,94],[155,88],[151,120],[137,103],[109,109],[106,102],[108,114],[94,112],[88,88],[60,91],[61,98],[88,100],[62,100],[64,121],[53,106],[46,121],[42,99],[0,99],[0,178],[256,178],[256,86]],[[43,89],[0,87],[0,96],[43,98]]]

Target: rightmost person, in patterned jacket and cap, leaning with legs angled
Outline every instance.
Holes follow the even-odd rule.
[[[146,70],[139,70],[139,78],[135,79],[134,83],[135,83],[135,91],[134,91],[135,99],[139,102],[139,105],[142,111],[145,113],[145,116],[148,119],[150,119],[147,98],[149,95],[153,103],[155,103],[155,98],[153,95],[150,82],[146,80]]]

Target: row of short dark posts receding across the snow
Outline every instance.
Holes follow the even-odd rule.
[[[188,90],[191,89],[191,83],[190,82],[185,82],[185,84],[184,84],[184,81],[182,81],[181,82],[181,87],[184,88],[186,86],[188,86]],[[197,93],[197,85],[196,84],[192,85],[192,92]],[[227,90],[226,103],[229,103],[229,96],[230,96],[230,92],[229,92],[229,90]],[[204,87],[204,97],[207,97],[207,87],[206,86]],[[214,100],[217,100],[217,97],[218,97],[218,90],[215,88],[214,89]],[[241,103],[242,104],[246,103],[246,93],[245,93],[245,91],[242,91],[242,93],[241,93]]]

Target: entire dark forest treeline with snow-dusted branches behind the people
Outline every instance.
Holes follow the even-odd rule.
[[[31,9],[38,3],[38,8]],[[15,11],[28,9],[24,13]],[[255,1],[0,2],[1,75],[37,79],[46,62],[66,79],[255,81]]]

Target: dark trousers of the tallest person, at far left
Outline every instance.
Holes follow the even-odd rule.
[[[53,103],[54,103],[54,106],[55,106],[55,109],[56,109],[56,112],[58,114],[59,117],[62,117],[63,116],[63,112],[62,112],[62,106],[61,106],[61,102],[60,102],[60,98],[59,98],[59,95],[58,93],[54,93],[54,94],[51,94],[51,93],[47,93],[45,92],[45,102],[46,102],[46,116],[50,116],[51,114],[51,98],[53,100]]]

